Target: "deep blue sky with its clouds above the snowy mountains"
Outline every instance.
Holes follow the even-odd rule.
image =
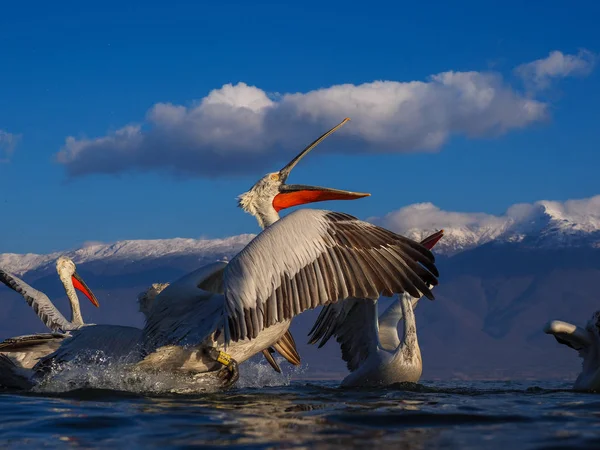
[[[0,133],[0,151],[12,151],[0,154],[0,253],[257,232],[235,197],[347,115],[346,134],[289,181],[372,197],[318,207],[367,218],[432,202],[500,214],[600,193],[597,2],[218,3],[2,7],[0,130],[12,140]],[[554,51],[587,66],[542,79],[515,71]],[[450,71],[474,75],[431,78]],[[388,114],[397,99],[378,80],[412,103]],[[465,100],[467,82],[476,99]],[[229,83],[234,100],[221,91]],[[213,100],[255,96],[276,113],[202,110],[213,90]],[[477,110],[488,94],[498,101]],[[521,117],[527,105],[538,109]],[[233,140],[208,142],[213,120]],[[141,143],[114,138],[128,125]]]

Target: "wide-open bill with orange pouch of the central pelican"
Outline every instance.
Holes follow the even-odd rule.
[[[285,181],[287,180],[287,177],[294,166],[298,164],[298,162],[308,152],[321,143],[321,141],[340,129],[349,120],[349,118],[345,118],[331,130],[323,133],[279,171],[279,180],[281,181],[281,186],[279,187],[279,194],[277,194],[273,199],[273,208],[275,208],[276,211],[281,211],[285,208],[291,208],[292,206],[304,205],[306,203],[323,202],[326,200],[356,200],[358,198],[368,197],[371,195],[364,192],[343,191],[340,189],[306,186],[303,184],[285,184]]]

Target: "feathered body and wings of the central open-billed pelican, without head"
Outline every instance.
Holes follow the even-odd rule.
[[[161,292],[144,328],[150,354],[140,366],[213,370],[218,365],[202,348],[226,343],[242,362],[276,345],[307,309],[358,295],[373,303],[381,292],[431,296],[432,272],[433,256],[416,242],[346,214],[298,210],[229,264],[205,266]]]

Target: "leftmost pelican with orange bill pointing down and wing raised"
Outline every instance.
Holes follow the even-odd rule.
[[[0,342],[0,353],[11,358],[18,366],[31,368],[39,358],[54,352],[70,332],[84,325],[75,290],[82,292],[96,307],[98,299],[77,273],[75,263],[66,256],[56,261],[56,271],[71,305],[71,320],[56,308],[46,294],[32,288],[20,278],[0,269],[0,281],[23,296],[40,320],[52,333],[36,333],[5,339]]]

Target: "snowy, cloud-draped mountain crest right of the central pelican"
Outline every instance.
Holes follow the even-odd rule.
[[[538,236],[543,230],[563,235],[600,232],[600,195],[565,202],[518,203],[502,215],[445,211],[432,203],[418,203],[368,220],[418,240],[444,229],[447,237],[439,248],[452,253],[498,238]]]

